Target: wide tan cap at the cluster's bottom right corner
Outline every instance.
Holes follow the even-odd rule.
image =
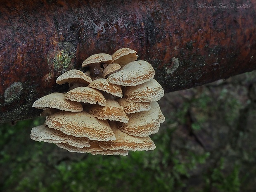
[[[99,146],[103,149],[123,149],[127,151],[147,151],[154,150],[156,146],[149,137],[134,137],[119,130],[115,122],[109,123],[111,129],[116,135],[116,140],[99,142]]]

